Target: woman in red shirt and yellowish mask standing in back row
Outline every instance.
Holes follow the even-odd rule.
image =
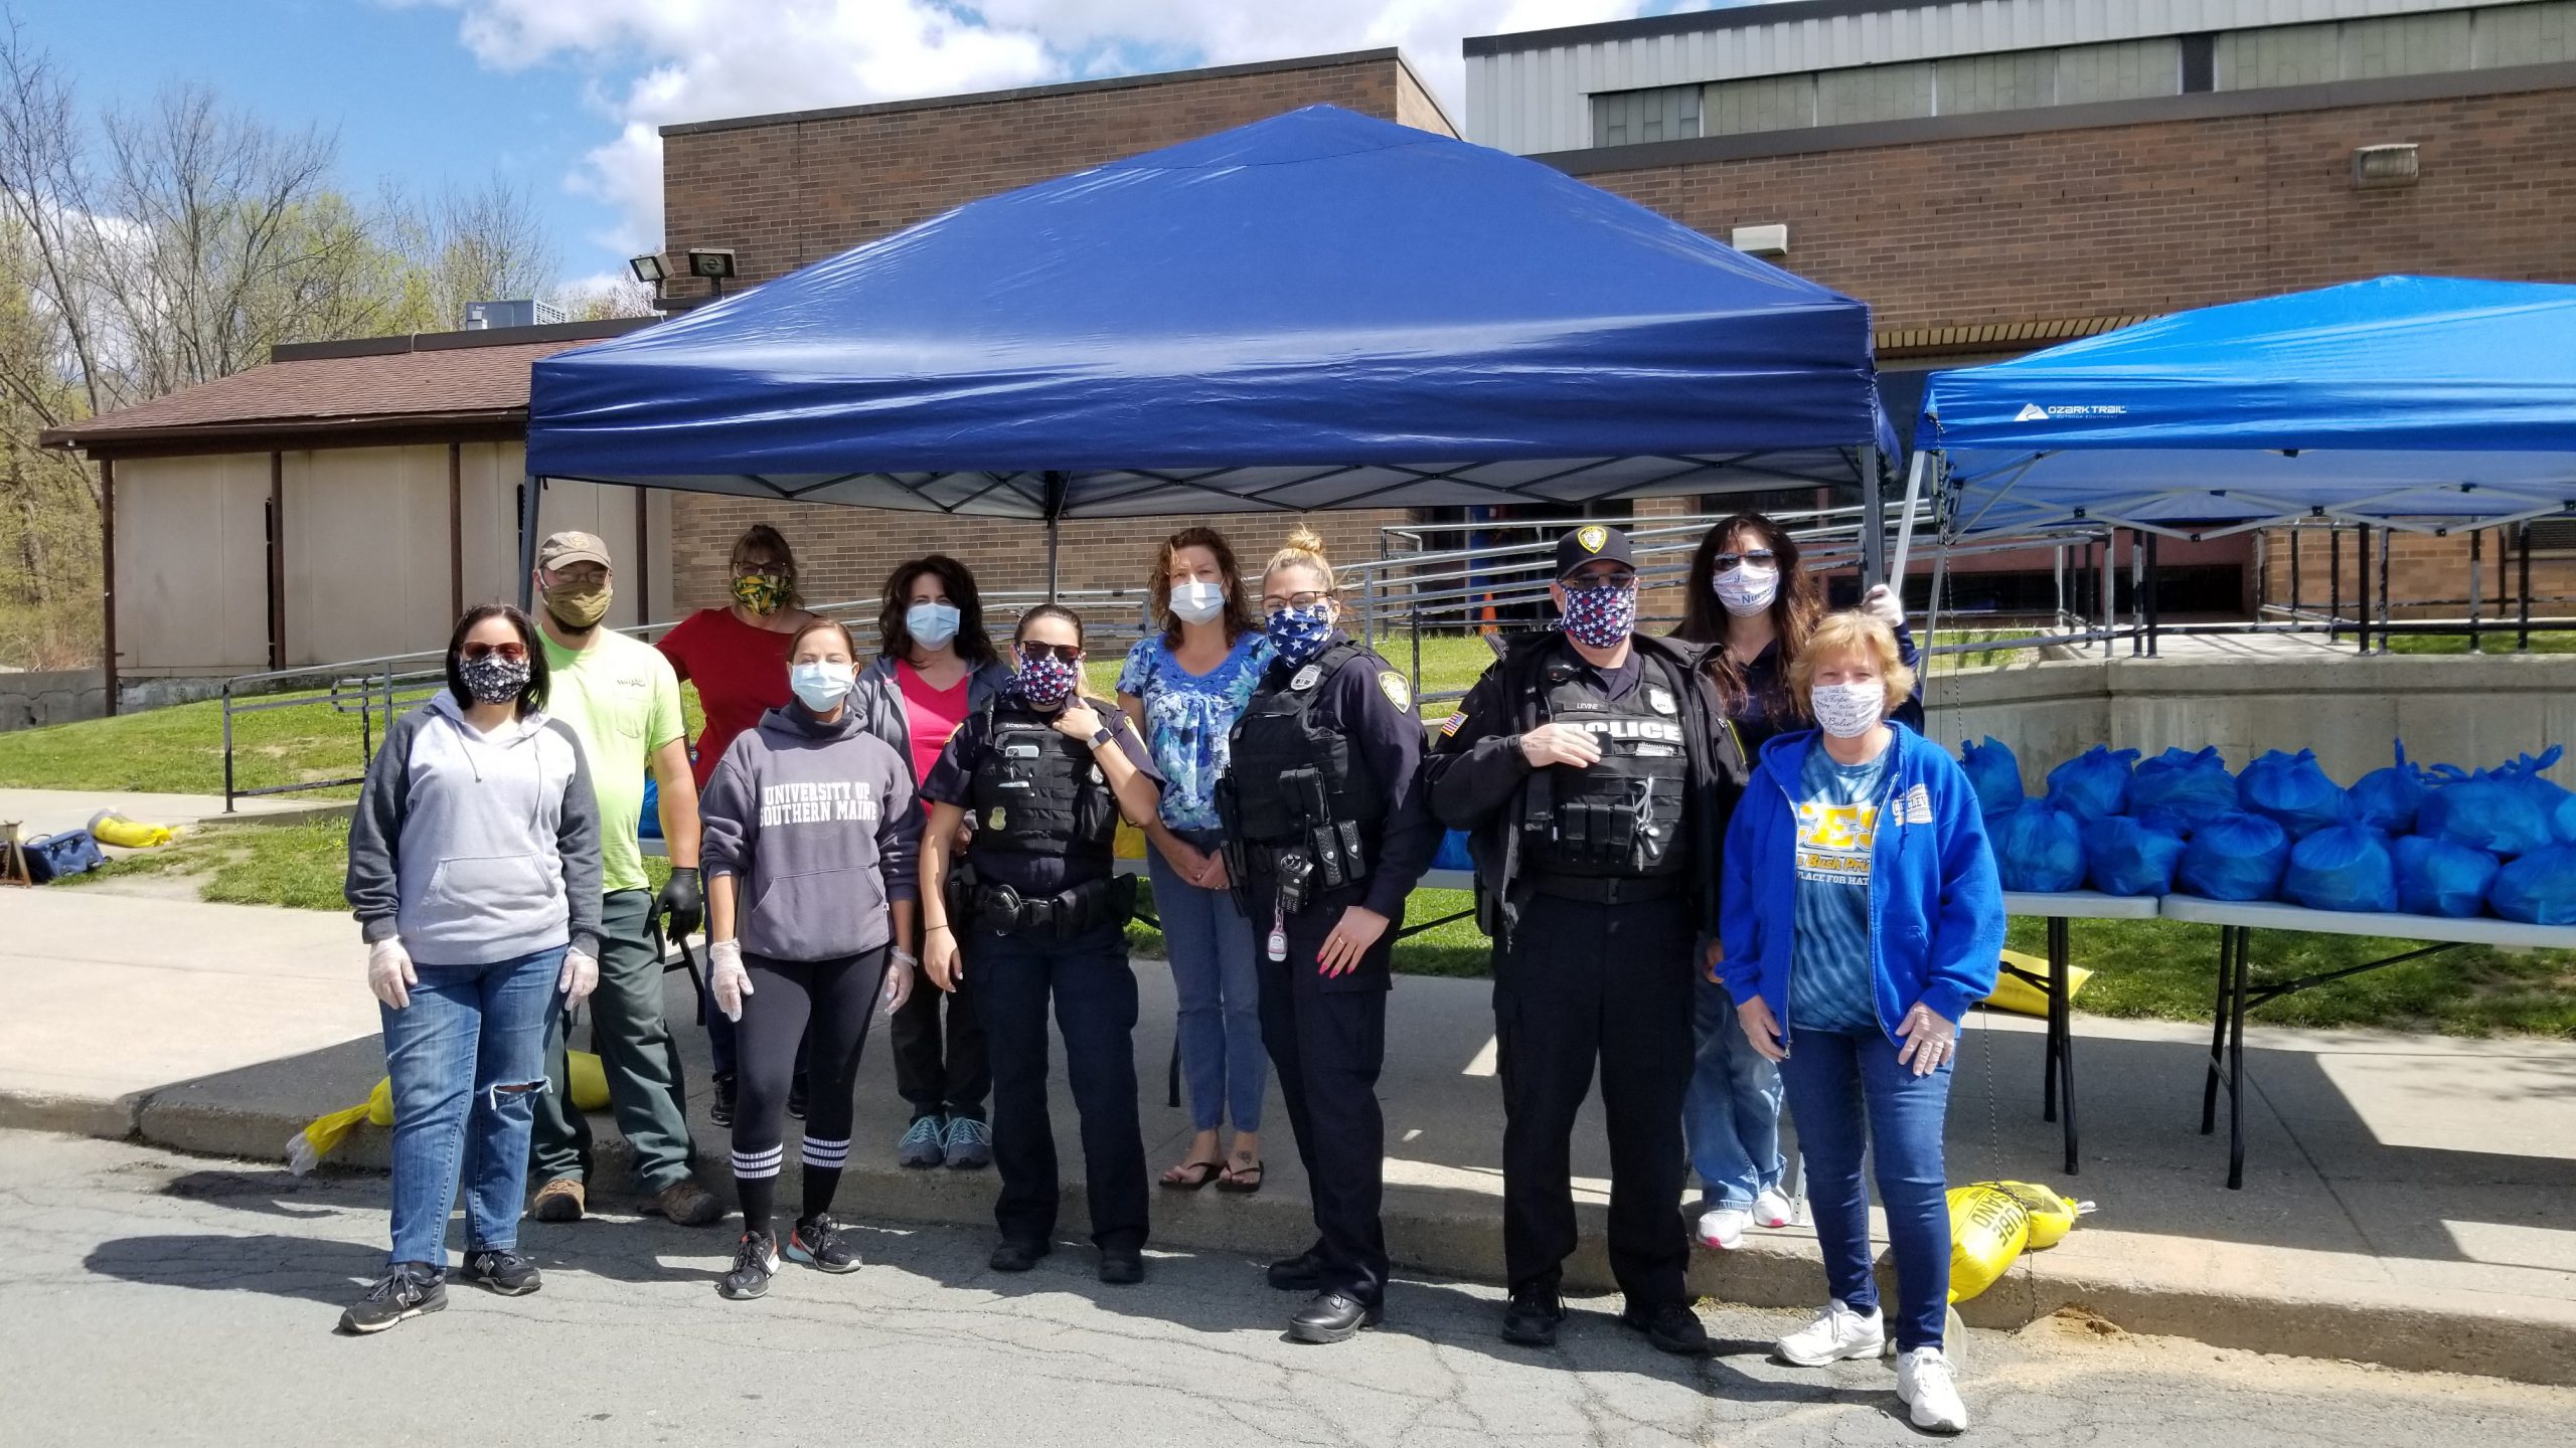
[[[760,716],[788,703],[788,644],[817,621],[796,593],[796,554],[778,528],[752,523],[734,538],[734,603],[701,608],[662,642],[662,657],[685,683],[698,685],[706,729],[698,734],[693,773],[706,788],[734,734],[760,727]],[[706,1013],[706,1046],[716,1059],[716,1126],[734,1121],[734,1023]],[[796,1062],[791,1110],[804,1116],[804,1056]]]

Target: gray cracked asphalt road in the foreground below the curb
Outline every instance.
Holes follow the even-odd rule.
[[[1399,1278],[1388,1324],[1280,1332],[1249,1257],[1151,1255],[1105,1288],[1061,1244],[984,1268],[976,1229],[860,1226],[868,1265],[788,1265],[765,1301],[714,1281],[729,1232],[528,1224],[536,1296],[451,1286],[381,1337],[335,1335],[384,1260],[384,1177],[0,1131],[0,1440],[827,1443],[925,1448],[1306,1443],[1909,1443],[1883,1363],[1788,1368],[1795,1314],[1705,1309],[1690,1363],[1577,1301],[1551,1353],[1494,1337],[1499,1293]],[[2076,1314],[1973,1332],[1976,1443],[2566,1443],[2576,1389],[2130,1337]]]

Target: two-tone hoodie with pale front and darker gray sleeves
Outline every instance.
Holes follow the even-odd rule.
[[[348,904],[366,940],[484,966],[600,948],[600,806],[572,729],[544,714],[489,734],[440,691],[366,765],[348,824]]]

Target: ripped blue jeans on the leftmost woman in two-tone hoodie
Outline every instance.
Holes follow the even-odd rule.
[[[415,961],[412,1005],[379,1002],[394,1080],[394,1262],[448,1265],[459,1175],[469,1250],[518,1247],[562,969],[562,946],[487,966]]]

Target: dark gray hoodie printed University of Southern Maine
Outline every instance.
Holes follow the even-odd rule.
[[[912,765],[858,709],[801,703],[734,734],[698,796],[701,866],[734,876],[734,938],[752,956],[829,961],[894,938],[889,902],[920,899]]]

